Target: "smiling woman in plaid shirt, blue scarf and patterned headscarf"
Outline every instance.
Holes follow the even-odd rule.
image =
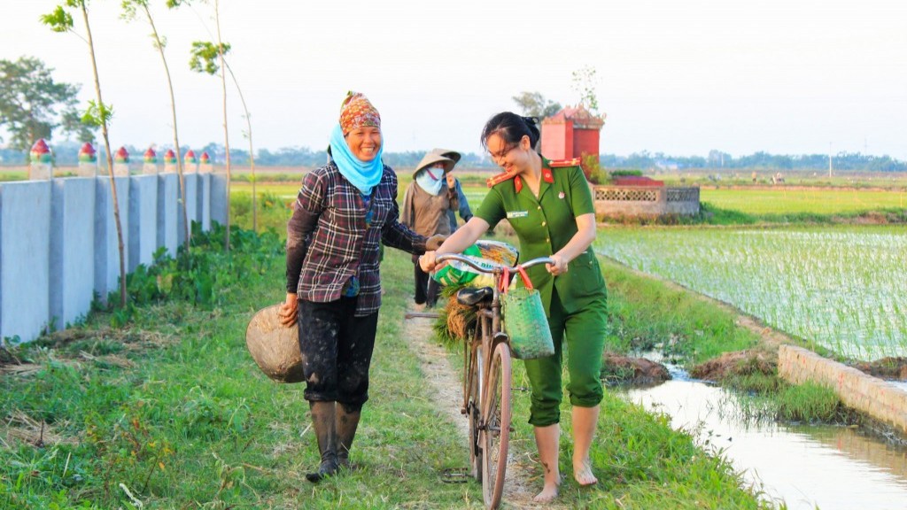
[[[428,241],[398,220],[397,180],[381,162],[381,117],[347,93],[331,133],[332,161],[308,172],[287,225],[285,325],[297,321],[305,397],[321,465],[317,482],[349,466],[349,448],[368,399],[381,280],[379,241],[421,254]],[[431,245],[441,240],[432,240]]]

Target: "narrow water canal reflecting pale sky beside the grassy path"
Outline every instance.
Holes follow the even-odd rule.
[[[791,509],[907,508],[907,448],[859,428],[747,419],[739,397],[670,370],[672,380],[625,397],[668,414],[671,427],[725,456],[766,497]]]

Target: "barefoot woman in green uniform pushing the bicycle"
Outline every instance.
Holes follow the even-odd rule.
[[[545,470],[544,487],[535,500],[548,502],[557,496],[561,481],[558,440],[564,344],[573,418],[573,477],[580,485],[598,481],[592,473],[589,449],[602,397],[599,377],[607,316],[605,282],[590,248],[595,240],[595,210],[589,183],[578,160],[546,160],[535,150],[538,142],[535,119],[505,112],[485,124],[483,146],[504,172],[489,179],[491,190],[473,219],[437,251],[425,252],[421,264],[425,271],[436,269],[437,255],[465,250],[504,218],[520,239],[522,260],[554,260],[530,268],[528,273],[541,292],[555,352],[525,361],[532,383],[529,422],[535,427]]]

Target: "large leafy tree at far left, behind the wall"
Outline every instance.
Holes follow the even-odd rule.
[[[75,111],[79,86],[54,82],[52,71],[34,57],[0,60],[0,126],[12,148],[28,152],[39,138],[53,138],[58,127],[80,139],[85,131],[91,135]]]

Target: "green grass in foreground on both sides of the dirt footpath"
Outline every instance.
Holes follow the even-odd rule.
[[[221,272],[238,272],[207,306],[142,305],[122,329],[108,326],[110,313],[95,312],[67,330],[69,341],[45,338],[16,351],[39,369],[0,376],[0,506],[132,508],[126,487],[144,508],[481,508],[480,485],[439,482],[467,456],[400,335],[411,264],[407,254],[386,252],[387,292],[354,473],[305,481],[317,448],[302,386],[268,380],[245,348],[252,313],[283,298],[277,256],[260,267],[225,262]],[[514,386],[528,386],[519,363]],[[516,391],[513,401],[513,447],[534,456],[528,393]],[[580,490],[568,477],[561,497],[568,507],[761,505],[726,462],[672,431],[667,417],[610,393],[602,407],[591,454],[600,487]],[[12,434],[27,420],[44,422],[43,446]]]

